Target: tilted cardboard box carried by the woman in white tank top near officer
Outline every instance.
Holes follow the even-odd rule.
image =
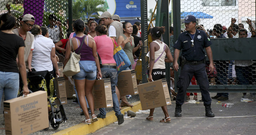
[[[138,85],[142,110],[171,105],[166,79]]]

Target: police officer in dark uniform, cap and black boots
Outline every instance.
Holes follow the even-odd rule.
[[[184,103],[186,90],[193,77],[196,77],[202,93],[202,100],[206,109],[207,117],[214,117],[211,111],[211,97],[208,91],[209,81],[206,75],[204,48],[210,60],[210,72],[214,70],[211,41],[207,38],[206,32],[196,29],[196,18],[188,15],[185,18],[185,32],[181,33],[175,42],[174,48],[174,70],[178,71],[178,56],[180,57],[181,74],[177,82],[178,95],[176,97],[175,116],[181,117],[181,105]]]

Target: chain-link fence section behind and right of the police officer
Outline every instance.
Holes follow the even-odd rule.
[[[181,22],[188,15],[194,15],[197,20],[197,29],[206,31],[208,37],[212,39],[255,37],[255,3],[255,0],[181,0]],[[181,23],[181,32],[184,28],[184,23]],[[223,56],[223,60],[214,61],[216,70],[214,74],[208,74],[210,84],[255,84],[255,58],[244,58],[248,57],[244,55],[245,52],[251,50],[243,50],[241,46],[244,44],[240,47],[232,47],[232,45],[225,45],[224,42],[219,43],[219,46],[225,46],[224,51],[229,55],[233,55],[232,52],[238,52],[241,56],[240,58],[236,56],[236,59],[225,59],[225,55],[218,54]]]

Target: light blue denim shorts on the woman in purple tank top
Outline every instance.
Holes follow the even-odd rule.
[[[73,76],[75,80],[95,80],[97,66],[95,61],[79,61],[80,72]]]

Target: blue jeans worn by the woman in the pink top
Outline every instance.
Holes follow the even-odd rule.
[[[112,99],[113,99],[113,110],[116,112],[116,116],[121,114],[119,108],[119,101],[116,95],[116,85],[117,85],[117,70],[116,69],[109,69],[109,68],[101,68],[102,78],[110,78],[111,82],[111,90],[112,90]],[[99,115],[106,116],[106,109],[99,108]]]

